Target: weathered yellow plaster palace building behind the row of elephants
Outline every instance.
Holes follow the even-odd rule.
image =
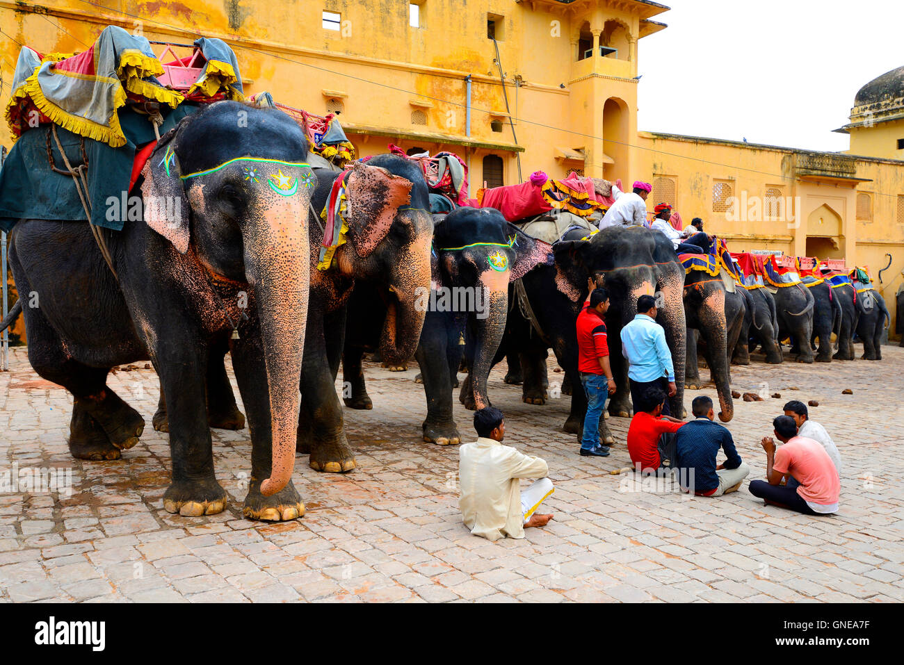
[[[0,101],[20,44],[81,51],[109,24],[152,41],[219,37],[246,94],[339,113],[359,155],[390,142],[456,152],[472,196],[535,170],[647,180],[651,209],[668,201],[685,222],[702,217],[733,249],[846,258],[874,280],[890,254],[880,288],[893,310],[904,68],[858,94],[839,130],[850,155],[638,131],[640,40],[666,27],[667,11],[647,0],[0,0]],[[0,143],[11,144],[5,128]]]

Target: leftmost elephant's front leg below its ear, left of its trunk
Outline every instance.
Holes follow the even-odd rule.
[[[164,492],[164,508],[190,517],[212,515],[225,509],[228,497],[213,473],[213,444],[204,392],[209,350],[167,342],[158,342],[155,352],[155,366],[165,392],[173,461],[173,482]],[[267,385],[266,381],[263,385]],[[259,393],[266,394],[266,390]],[[251,396],[243,393],[242,397]]]

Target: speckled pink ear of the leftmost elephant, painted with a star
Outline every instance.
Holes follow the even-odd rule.
[[[145,182],[141,192],[145,199],[145,223],[173,243],[181,254],[188,251],[189,206],[185,196],[179,158],[175,155],[176,129],[160,137],[141,174]]]

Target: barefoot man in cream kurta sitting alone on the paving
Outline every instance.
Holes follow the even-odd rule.
[[[549,467],[539,457],[501,444],[505,420],[498,408],[476,411],[474,428],[479,437],[476,443],[458,448],[458,505],[466,527],[488,540],[524,538],[524,527],[545,527],[552,515],[536,510],[554,492],[546,477]],[[521,492],[520,478],[540,480]]]

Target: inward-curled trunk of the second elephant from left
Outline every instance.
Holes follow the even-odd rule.
[[[427,315],[427,308],[420,306],[419,293],[429,293],[430,241],[428,233],[421,233],[393,258],[391,297],[387,300],[386,320],[380,333],[380,352],[383,361],[390,365],[404,364],[418,349]]]

